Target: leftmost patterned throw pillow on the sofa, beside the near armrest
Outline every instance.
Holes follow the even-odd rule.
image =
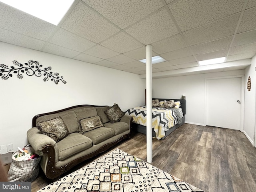
[[[38,122],[36,127],[42,134],[45,134],[58,142],[69,135],[68,128],[61,117]]]

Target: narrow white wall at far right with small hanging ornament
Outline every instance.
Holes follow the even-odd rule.
[[[245,90],[244,90],[244,134],[254,144],[255,134],[255,97],[256,97],[256,56],[252,58],[252,64],[245,69]],[[251,78],[251,90],[247,90],[248,77]]]

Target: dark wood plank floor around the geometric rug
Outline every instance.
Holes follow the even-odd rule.
[[[144,134],[114,148],[146,161]],[[164,140],[153,139],[151,164],[205,192],[256,191],[256,148],[240,131],[184,124]],[[40,172],[32,192],[51,182]]]

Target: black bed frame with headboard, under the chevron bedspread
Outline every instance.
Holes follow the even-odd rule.
[[[154,99],[158,99],[158,98],[152,98],[152,100]],[[181,119],[182,123],[173,126],[172,128],[170,128],[168,131],[165,132],[165,136],[163,138],[161,138],[161,140],[163,140],[164,138],[166,138],[171,132],[173,132],[176,128],[182,126],[185,123],[185,114],[186,114],[186,100],[185,99],[158,99],[159,101],[168,101],[168,100],[174,100],[174,101],[180,101],[180,107],[182,108],[182,112],[184,117]],[[132,129],[139,132],[139,133],[143,133],[146,134],[146,126],[140,125],[140,124],[136,124],[136,123],[132,123]],[[156,138],[156,132],[154,131],[154,128],[152,128],[152,137]]]

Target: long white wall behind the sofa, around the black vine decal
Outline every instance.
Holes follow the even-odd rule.
[[[38,61],[43,68],[64,77],[66,84],[43,81],[43,76],[18,79],[13,74],[8,80],[0,79],[0,146],[25,146],[26,132],[32,127],[36,114],[51,112],[79,104],[109,105],[115,102],[122,110],[144,104],[146,80],[139,75],[89,64],[70,58],[0,42],[0,64],[14,66],[13,60],[24,64]]]

